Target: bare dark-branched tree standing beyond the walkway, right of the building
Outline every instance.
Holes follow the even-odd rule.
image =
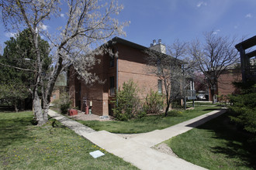
[[[197,70],[204,74],[213,100],[220,74],[238,61],[237,50],[234,47],[236,39],[217,36],[214,32],[206,32],[204,36],[204,43],[199,40],[191,43],[189,53],[196,63]]]

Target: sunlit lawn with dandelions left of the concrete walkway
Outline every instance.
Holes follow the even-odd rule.
[[[137,169],[50,119],[33,125],[32,112],[0,113],[0,169]],[[92,158],[89,152],[106,155]]]

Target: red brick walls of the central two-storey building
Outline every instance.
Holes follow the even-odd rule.
[[[150,92],[150,88],[157,91],[157,77],[148,72],[148,67],[145,64],[144,53],[139,49],[134,49],[130,46],[123,46],[122,44],[116,44],[114,46],[115,53],[118,50],[118,86],[122,87],[123,82],[132,79],[137,83],[141,90],[141,98],[146,97],[147,93]],[[70,95],[72,105],[76,105],[76,95],[78,95],[78,84],[81,83],[81,110],[85,110],[85,105],[83,104],[82,97],[88,98],[92,101],[92,113],[98,115],[108,115],[109,114],[109,104],[112,97],[109,95],[109,77],[115,77],[115,87],[116,87],[116,61],[115,66],[109,67],[109,54],[104,56],[96,56],[101,60],[97,64],[92,73],[95,73],[99,78],[105,83],[94,83],[91,86],[77,80],[75,77],[70,77]],[[72,70],[71,70],[72,71]],[[71,72],[72,73],[72,72]]]

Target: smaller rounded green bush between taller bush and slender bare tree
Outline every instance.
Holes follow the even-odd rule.
[[[147,114],[160,114],[164,107],[162,96],[156,91],[150,90],[147,94],[146,102],[144,104],[144,111]]]

